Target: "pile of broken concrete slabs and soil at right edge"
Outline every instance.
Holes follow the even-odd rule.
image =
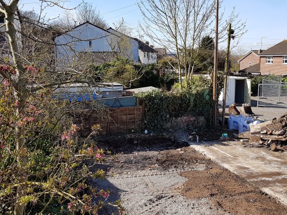
[[[271,151],[287,151],[287,113],[272,121],[250,125],[250,131],[239,133],[239,138],[242,143],[265,145]]]

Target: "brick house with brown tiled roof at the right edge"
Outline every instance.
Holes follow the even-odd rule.
[[[277,43],[258,55],[261,75],[287,75],[287,40]]]

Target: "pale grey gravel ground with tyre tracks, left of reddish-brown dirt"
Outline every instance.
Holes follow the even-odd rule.
[[[184,154],[189,150],[174,151]],[[179,188],[187,181],[187,178],[180,176],[179,173],[202,171],[205,165],[199,162],[192,163],[190,166],[182,161],[168,168],[160,163],[152,164],[150,158],[152,161],[160,161],[166,157],[165,152],[167,151],[144,151],[119,155],[109,170],[107,178],[94,182],[97,186],[111,191],[110,197],[112,198],[109,201],[116,201],[120,198],[122,206],[129,215],[228,214],[213,208],[208,198],[191,200],[180,194]],[[117,211],[113,207],[108,207],[100,214],[117,214]]]

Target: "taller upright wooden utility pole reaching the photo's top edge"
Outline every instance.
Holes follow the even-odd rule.
[[[216,112],[217,112],[217,61],[218,61],[218,0],[215,0],[215,40],[214,40],[214,66],[213,66],[213,111],[212,111],[212,126],[216,126]]]

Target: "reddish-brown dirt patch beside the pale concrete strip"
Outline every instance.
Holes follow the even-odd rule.
[[[259,188],[213,162],[203,171],[181,172],[188,181],[180,188],[188,198],[208,197],[214,207],[231,214],[284,215],[287,208]]]

